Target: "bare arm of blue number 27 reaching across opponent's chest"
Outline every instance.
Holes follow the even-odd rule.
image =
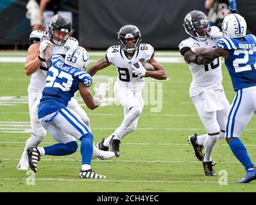
[[[203,56],[206,58],[218,58],[220,56],[226,58],[228,56],[228,51],[221,49],[220,47],[213,47],[211,49],[199,47],[194,50],[194,53],[198,54],[198,56]]]

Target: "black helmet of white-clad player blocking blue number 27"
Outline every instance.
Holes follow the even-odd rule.
[[[198,10],[187,13],[183,20],[183,27],[187,34],[201,41],[207,40],[209,24],[209,19],[205,13]]]

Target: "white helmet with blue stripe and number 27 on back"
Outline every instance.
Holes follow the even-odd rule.
[[[231,13],[223,20],[221,29],[224,37],[241,38],[246,35],[247,24],[244,17],[237,13]]]

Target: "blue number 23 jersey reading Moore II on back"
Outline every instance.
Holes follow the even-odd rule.
[[[74,97],[74,93],[79,89],[79,83],[90,86],[92,77],[87,72],[66,65],[64,58],[59,54],[51,56],[46,85],[38,106],[38,118],[40,119],[67,106],[71,97]]]

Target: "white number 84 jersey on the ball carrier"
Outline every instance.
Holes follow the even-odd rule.
[[[154,56],[154,48],[150,44],[141,44],[132,58],[124,54],[120,45],[108,48],[106,57],[110,63],[115,65],[118,72],[117,81],[129,86],[144,86],[144,79],[133,74],[132,65],[139,61],[148,61]]]

